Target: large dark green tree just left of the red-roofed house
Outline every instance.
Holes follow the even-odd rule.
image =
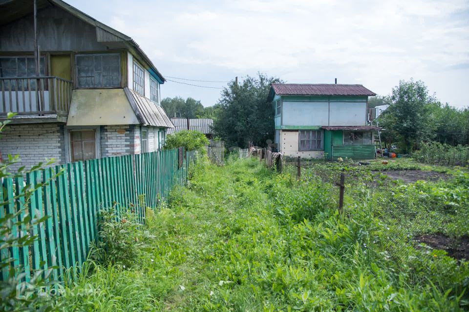
[[[213,121],[216,136],[228,146],[244,147],[249,143],[264,146],[267,139],[274,137],[274,110],[267,103],[271,83],[278,78],[258,73],[258,77],[247,76],[237,85],[231,81],[224,88],[218,101],[219,109]]]

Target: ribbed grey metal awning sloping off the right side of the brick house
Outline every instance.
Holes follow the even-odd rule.
[[[124,92],[135,112],[140,124],[163,128],[174,128],[171,119],[166,115],[161,105],[158,105],[148,98],[139,95],[129,88],[124,88]]]

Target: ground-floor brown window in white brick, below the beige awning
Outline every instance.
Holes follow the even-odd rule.
[[[70,152],[72,161],[96,158],[96,131],[70,130]]]

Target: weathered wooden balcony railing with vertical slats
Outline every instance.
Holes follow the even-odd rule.
[[[0,78],[0,116],[67,116],[71,97],[72,82],[62,78]]]

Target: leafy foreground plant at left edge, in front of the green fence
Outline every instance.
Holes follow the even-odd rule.
[[[9,113],[7,120],[0,123],[0,133],[10,122],[10,118],[15,114]],[[53,164],[54,159],[46,160],[29,170],[21,167],[16,172],[11,171],[11,166],[18,163],[18,155],[8,155],[8,159],[0,163],[0,180],[21,177],[34,171],[39,171],[46,166]],[[61,174],[61,173],[59,173]],[[51,177],[55,178],[59,174]],[[24,252],[24,247],[31,246],[38,238],[37,235],[19,233],[18,229],[39,226],[48,216],[34,217],[28,211],[28,203],[31,195],[42,188],[50,180],[38,183],[34,187],[26,184],[21,190],[17,190],[17,195],[13,199],[25,198],[21,207],[17,206],[16,212],[8,212],[5,205],[8,204],[6,198],[7,191],[2,186],[0,199],[0,253],[1,253],[1,280],[0,280],[0,311],[56,311],[59,307],[54,305],[52,297],[49,295],[51,286],[56,282],[52,278],[55,269],[51,266],[43,270],[33,270],[31,273],[23,272],[22,268],[15,265],[14,250]],[[18,201],[17,205],[20,205]],[[34,215],[42,215],[35,212]],[[26,248],[27,250],[27,248]],[[17,255],[18,256],[18,255]],[[29,255],[27,255],[29,257]],[[40,264],[41,267],[44,263]]]

